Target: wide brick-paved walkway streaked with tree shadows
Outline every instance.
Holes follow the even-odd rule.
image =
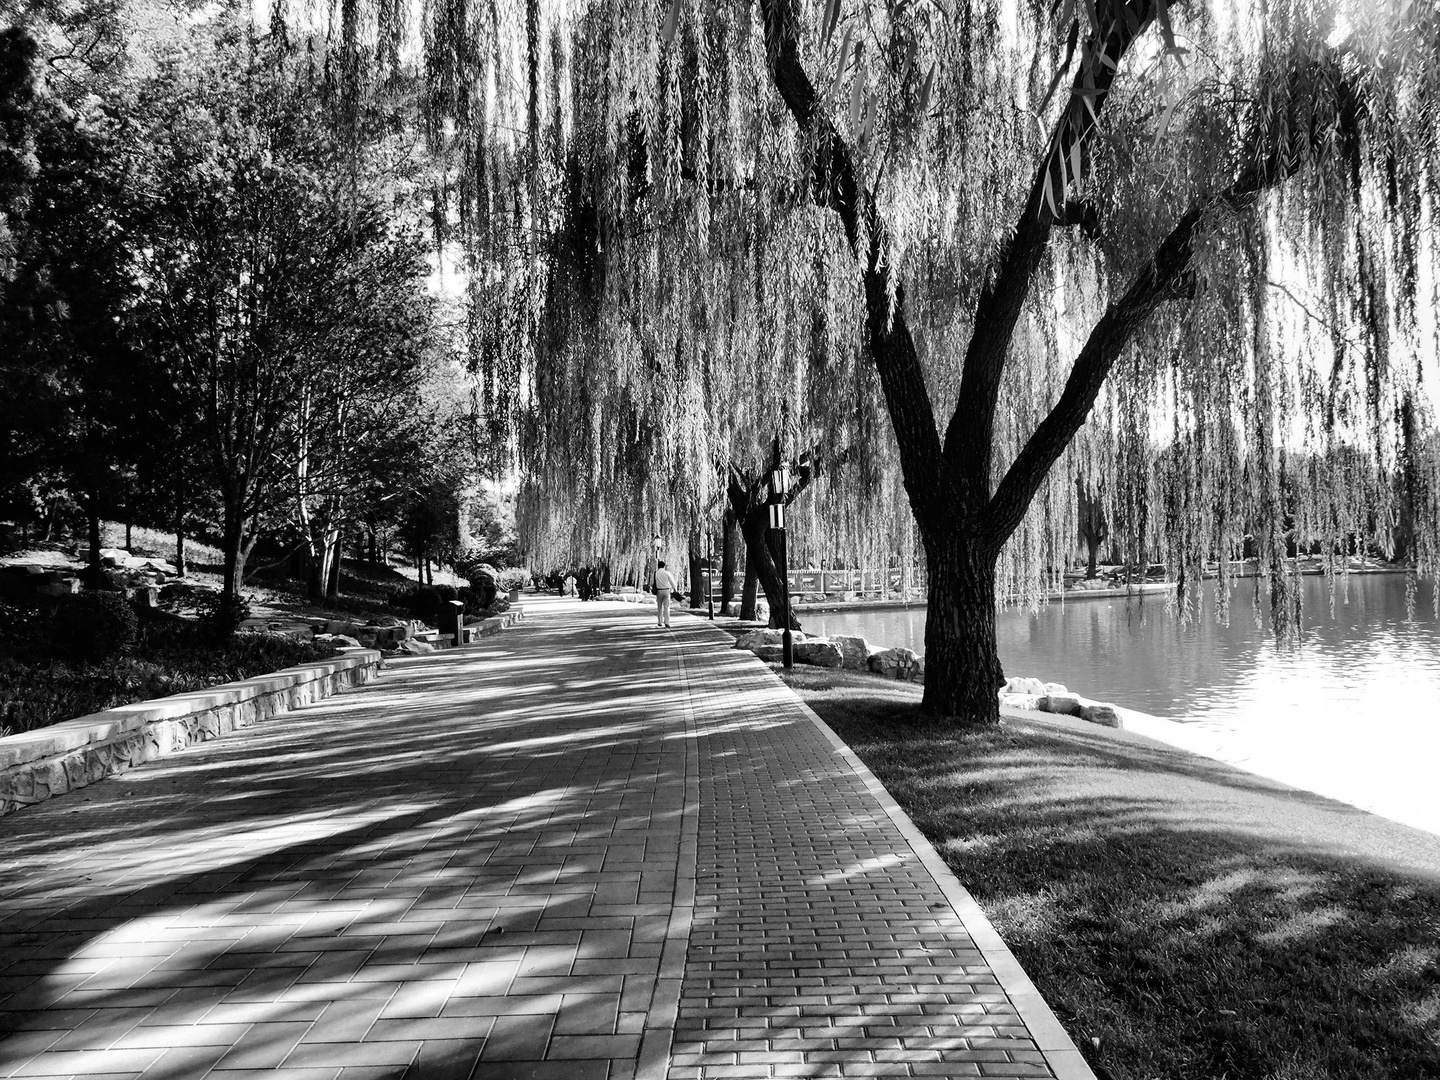
[[[0,819],[0,1077],[1090,1077],[729,644],[541,599]]]

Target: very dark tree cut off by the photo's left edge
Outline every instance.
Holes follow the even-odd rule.
[[[0,484],[12,504],[49,472],[82,508],[89,564],[122,503],[141,397],[121,325],[131,285],[112,124],[78,114],[39,75],[23,30],[0,32]]]

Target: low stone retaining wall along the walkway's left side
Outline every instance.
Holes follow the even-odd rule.
[[[379,668],[377,651],[348,649],[271,675],[7,736],[0,739],[0,816],[369,683]]]

